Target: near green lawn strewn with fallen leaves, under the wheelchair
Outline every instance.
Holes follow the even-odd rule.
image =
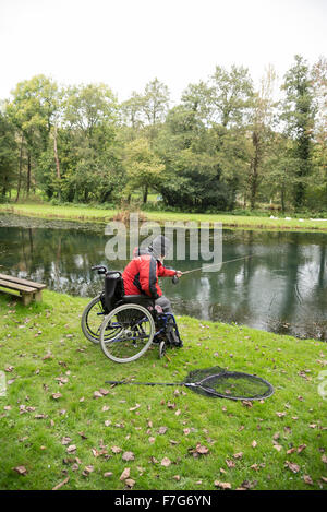
[[[324,343],[182,317],[184,347],[170,349],[170,360],[159,359],[155,347],[119,365],[82,335],[87,299],[46,290],[43,303],[24,308],[12,300],[0,296],[0,370],[8,381],[0,397],[1,489],[51,489],[68,477],[63,489],[124,489],[120,476],[126,467],[136,490],[215,489],[215,480],[232,489],[245,480],[255,489],[326,487],[327,402],[317,392],[327,361]],[[249,407],[181,388],[175,394],[169,386],[105,384],[132,376],[181,381],[191,369],[214,365],[257,373],[274,384],[275,394]],[[95,398],[100,388],[109,393]],[[58,392],[62,396],[55,400]],[[160,427],[166,433],[158,433]],[[62,444],[64,437],[69,444]],[[209,452],[195,459],[190,450],[198,443]],[[76,451],[69,454],[71,444]],[[112,446],[122,452],[113,453]],[[135,459],[124,462],[124,452]],[[167,467],[164,457],[171,462]],[[299,471],[284,467],[286,461]],[[27,474],[19,475],[17,466]],[[93,466],[88,476],[85,466]],[[104,476],[108,472],[112,476]]]

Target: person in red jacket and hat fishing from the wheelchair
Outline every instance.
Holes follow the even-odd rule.
[[[159,310],[161,308],[164,312],[172,313],[170,300],[162,295],[158,283],[158,277],[182,275],[181,271],[164,265],[169,249],[170,240],[162,235],[157,236],[146,249],[135,248],[134,258],[124,269],[122,278],[125,295],[146,295],[155,300],[155,307],[159,307]]]

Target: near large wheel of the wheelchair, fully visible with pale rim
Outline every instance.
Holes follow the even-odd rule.
[[[113,335],[106,338],[110,330]],[[101,324],[101,349],[112,361],[131,362],[148,349],[155,332],[153,315],[146,308],[136,303],[122,305],[113,309]]]

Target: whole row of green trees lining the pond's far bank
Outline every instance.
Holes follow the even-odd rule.
[[[58,204],[121,204],[152,189],[162,207],[222,212],[274,202],[327,207],[327,60],[300,56],[274,103],[275,72],[217,66],[169,108],[158,79],[118,104],[105,84],[21,82],[0,119],[0,195],[39,190]],[[5,127],[5,128],[4,128]],[[13,199],[13,198],[12,198]],[[152,206],[149,206],[152,207]]]

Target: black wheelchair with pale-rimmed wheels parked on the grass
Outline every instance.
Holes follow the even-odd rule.
[[[152,344],[159,346],[159,357],[167,347],[181,347],[172,313],[164,312],[146,295],[124,295],[121,272],[104,265],[92,267],[105,275],[105,287],[82,314],[82,331],[90,342],[100,344],[104,354],[116,362],[138,359]]]

